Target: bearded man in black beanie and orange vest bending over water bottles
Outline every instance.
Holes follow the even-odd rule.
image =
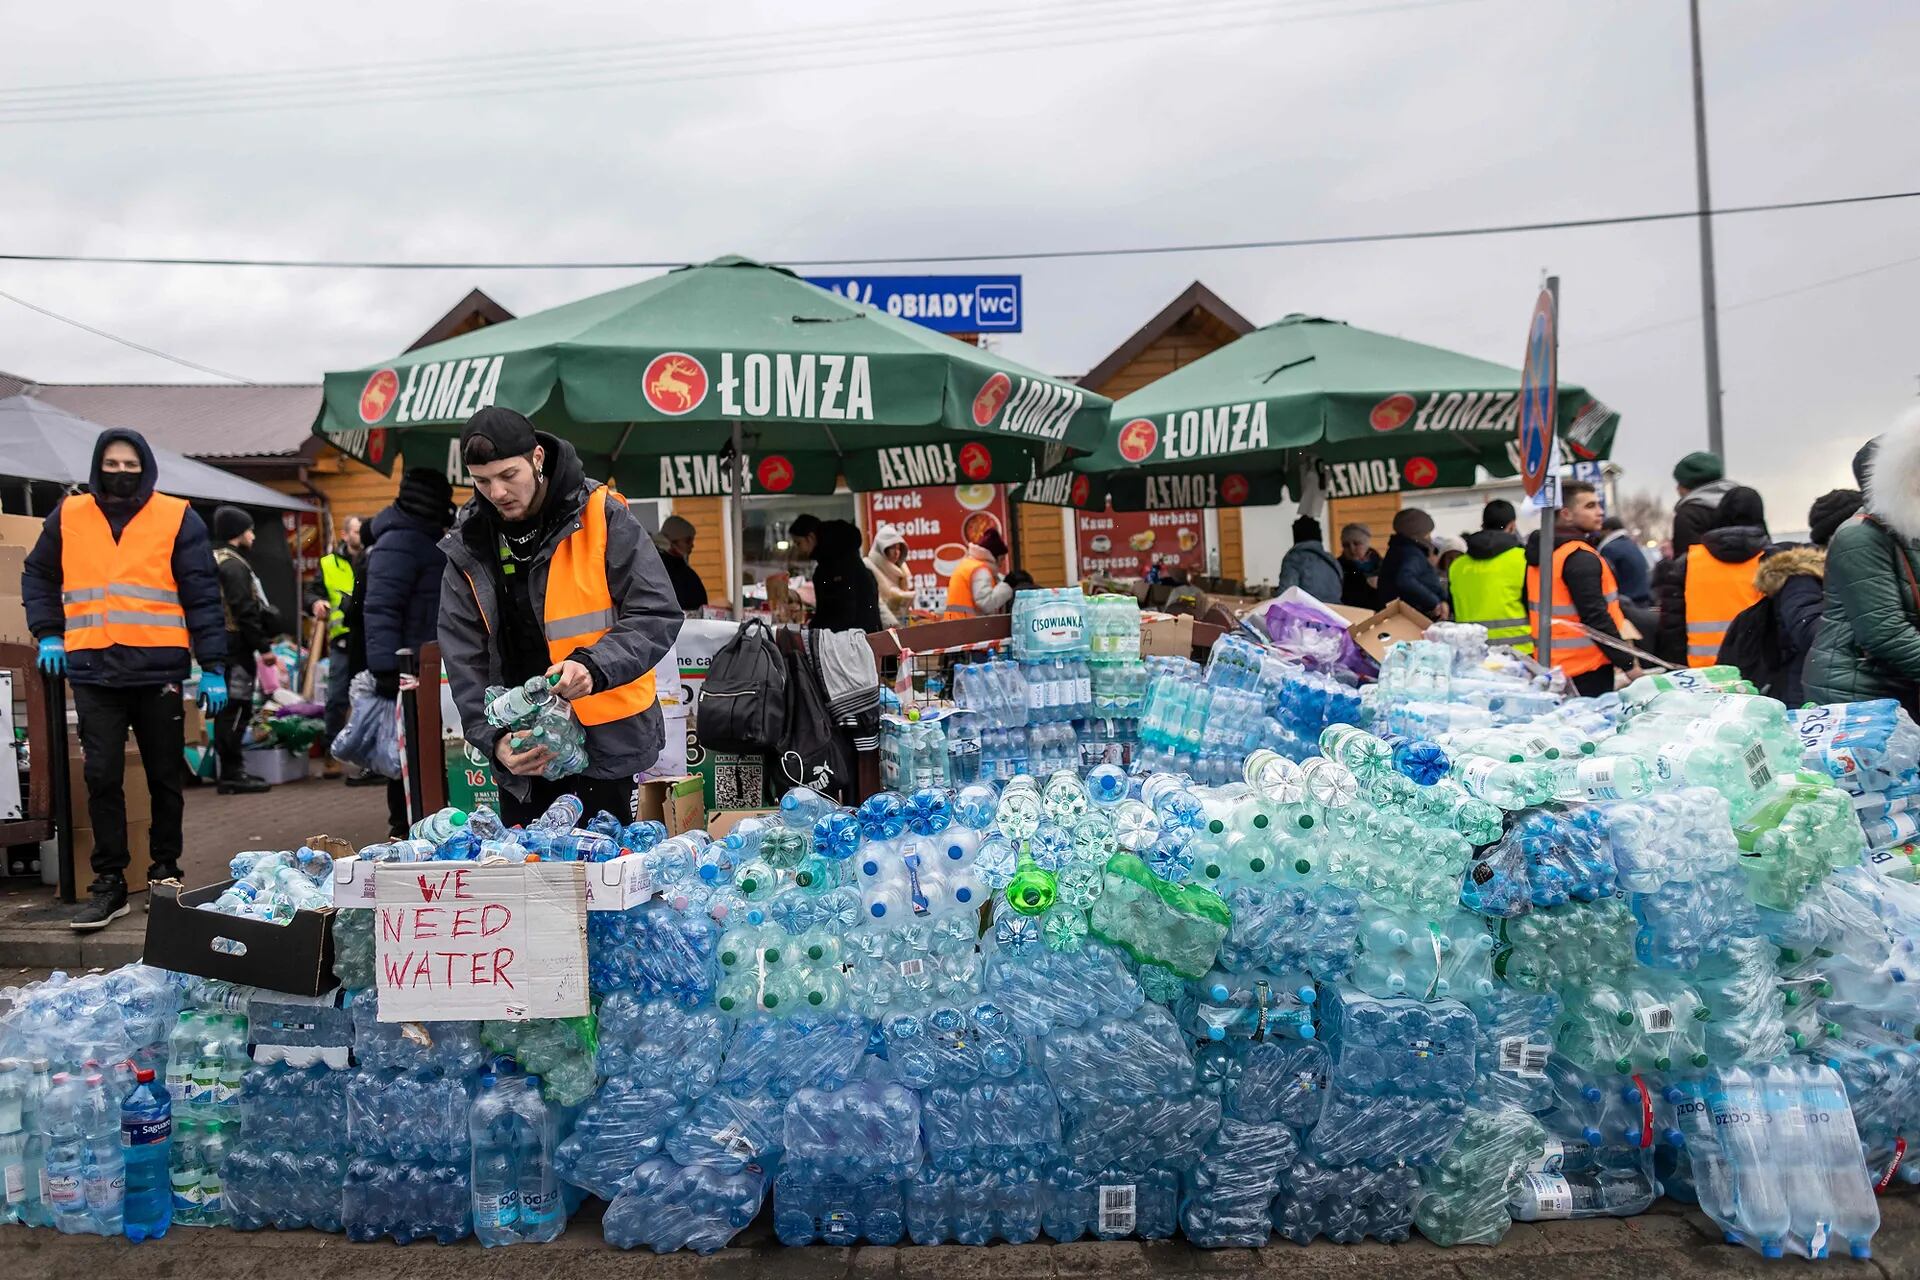
[[[563,794],[586,816],[634,812],[634,775],[660,754],[653,668],[685,616],[653,539],[588,480],[574,447],[511,409],[461,428],[474,495],[442,539],[440,660],[467,741],[497,764],[501,818],[524,823]],[[588,731],[588,768],[547,781],[545,747],[486,722],[488,685],[547,676]]]

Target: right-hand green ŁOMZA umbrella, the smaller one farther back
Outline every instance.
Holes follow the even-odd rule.
[[[1135,480],[1212,476],[1212,505],[1235,507],[1277,484],[1298,493],[1308,466],[1336,495],[1471,484],[1475,466],[1517,472],[1519,388],[1505,365],[1290,315],[1117,401],[1102,445],[1060,470],[1100,478],[1116,505],[1150,493]],[[1567,455],[1605,459],[1619,420],[1561,382]]]

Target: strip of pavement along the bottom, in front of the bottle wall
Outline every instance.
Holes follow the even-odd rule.
[[[1920,1196],[1882,1199],[1874,1259],[1766,1261],[1720,1244],[1697,1211],[1661,1201],[1638,1219],[1515,1222],[1496,1247],[1405,1244],[1265,1249],[1194,1249],[1183,1242],[1079,1242],[1029,1245],[902,1245],[783,1249],[766,1215],[735,1247],[708,1257],[622,1253],[601,1242],[599,1215],[584,1211],[547,1245],[482,1249],[348,1244],[319,1232],[177,1228],[131,1245],[96,1236],[0,1228],[8,1280],[1079,1280],[1200,1276],[1219,1280],[1908,1280],[1920,1276]]]

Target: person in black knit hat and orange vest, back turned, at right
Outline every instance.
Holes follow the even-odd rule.
[[[1720,495],[1715,526],[1653,570],[1661,608],[1655,652],[1680,666],[1713,666],[1740,610],[1759,603],[1753,576],[1766,551],[1766,505],[1747,486]]]

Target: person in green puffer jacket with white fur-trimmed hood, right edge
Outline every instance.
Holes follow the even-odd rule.
[[[1920,411],[1853,457],[1862,514],[1826,549],[1826,612],[1807,654],[1814,702],[1899,699],[1920,714]]]

